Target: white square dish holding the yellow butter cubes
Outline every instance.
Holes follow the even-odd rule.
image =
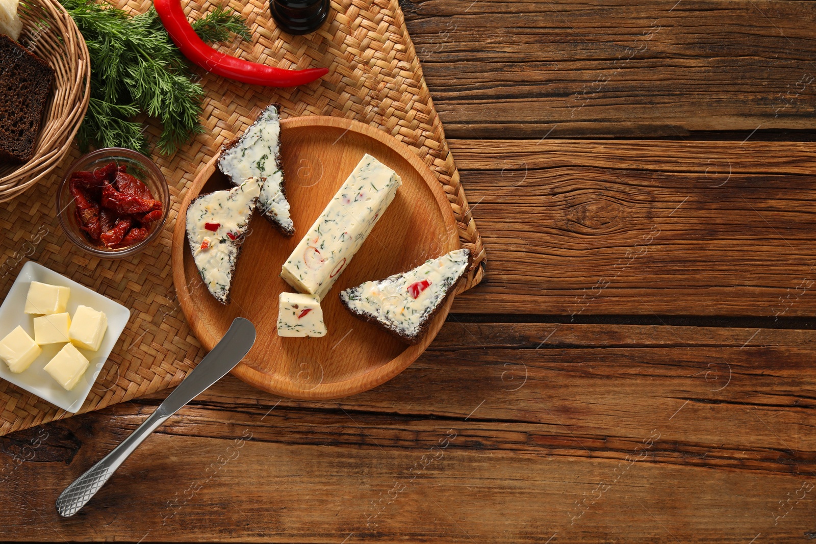
[[[0,338],[10,333],[17,325],[23,327],[32,338],[34,335],[33,318],[35,316],[23,313],[25,306],[25,296],[29,292],[29,285],[32,281],[41,281],[51,285],[64,285],[71,290],[68,299],[68,312],[73,316],[78,306],[90,306],[95,310],[104,312],[108,316],[108,330],[105,331],[102,345],[96,352],[89,352],[80,349],[82,355],[91,361],[91,365],[80,378],[79,383],[71,391],[65,391],[54,378],[44,370],[45,365],[57,352],[62,349],[64,343],[46,344],[42,346],[42,353],[36,360],[20,374],[14,374],[8,369],[5,362],[0,361],[0,378],[8,380],[26,391],[32,392],[42,400],[47,400],[52,405],[69,412],[76,412],[82,407],[82,403],[91,392],[91,387],[99,376],[108,360],[113,346],[125,329],[127,321],[131,318],[131,311],[122,304],[114,302],[107,297],[88,289],[85,285],[69,280],[67,277],[57,274],[42,266],[42,264],[29,261],[23,265],[20,274],[11,285],[8,295],[0,305]]]

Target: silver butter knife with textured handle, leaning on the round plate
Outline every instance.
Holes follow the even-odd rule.
[[[175,387],[173,392],[150,414],[122,444],[119,444],[100,462],[85,471],[60,493],[56,499],[56,511],[64,517],[76,514],[119,468],[122,462],[156,430],[167,418],[182,406],[200,395],[232,370],[255,343],[255,326],[243,317],[236,317],[224,338],[215,344],[202,362]]]

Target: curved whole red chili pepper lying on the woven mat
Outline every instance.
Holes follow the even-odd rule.
[[[153,6],[156,7],[156,12],[175,46],[193,64],[201,66],[208,72],[239,82],[273,87],[305,85],[329,73],[326,68],[286,70],[224,55],[204,43],[202,38],[198,38],[187,17],[184,16],[181,0],[153,0]]]

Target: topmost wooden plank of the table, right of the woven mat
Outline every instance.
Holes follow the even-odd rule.
[[[813,2],[401,6],[449,138],[816,129]]]

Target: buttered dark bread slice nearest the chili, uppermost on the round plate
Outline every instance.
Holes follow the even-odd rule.
[[[240,138],[221,148],[218,168],[233,185],[240,185],[251,177],[266,178],[260,186],[258,209],[286,237],[295,234],[281,170],[281,117],[278,104],[264,109]]]

